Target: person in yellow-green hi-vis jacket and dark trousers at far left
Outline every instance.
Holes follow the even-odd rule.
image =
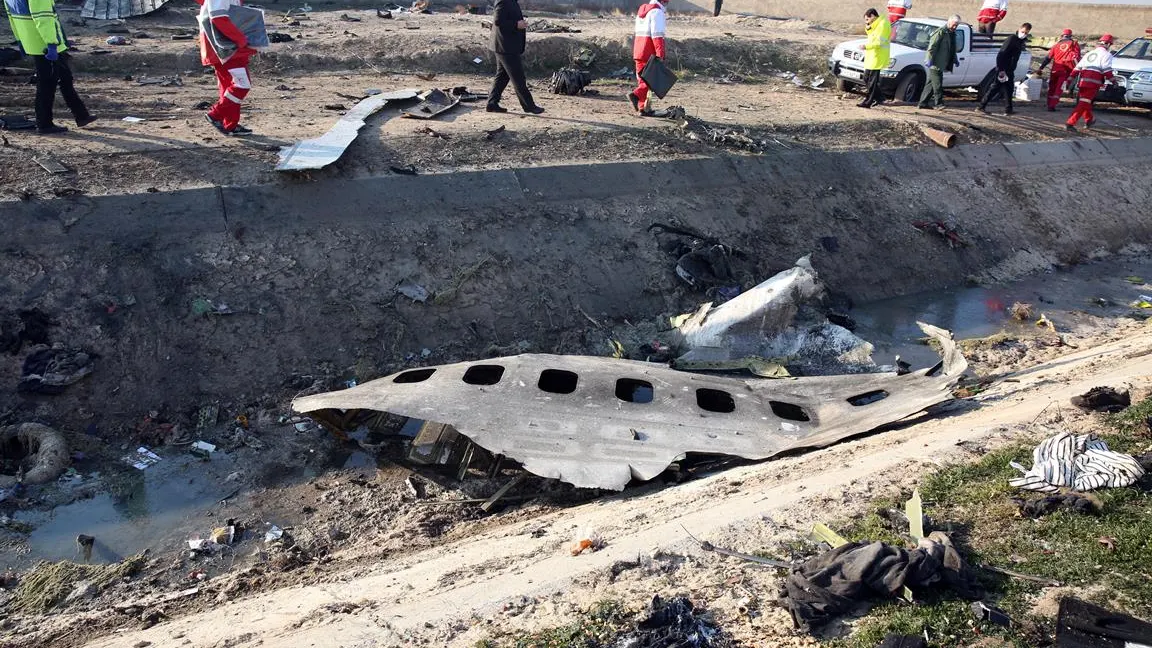
[[[36,67],[36,131],[52,135],[68,130],[52,121],[56,88],[76,119],[76,126],[88,126],[96,121],[73,85],[71,69],[68,67],[68,40],[60,28],[53,0],[5,0],[5,8],[8,10],[13,35],[24,53],[32,56]]]

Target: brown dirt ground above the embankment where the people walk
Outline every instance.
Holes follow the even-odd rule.
[[[164,191],[215,184],[291,182],[273,171],[281,146],[325,133],[367,89],[467,86],[486,92],[492,55],[484,16],[403,14],[393,20],[374,10],[313,12],[296,27],[280,29],[291,43],[273,45],[252,66],[255,89],[244,122],[256,136],[217,134],[204,121],[203,101],[215,99],[215,81],[198,66],[195,42],[170,40],[195,25],[194,5],[169,3],[126,27],[130,44],[105,45],[106,24],[66,17],[78,44],[79,88],[101,121],[66,136],[44,138],[28,131],[5,134],[0,148],[0,199],[46,198]],[[347,18],[344,18],[347,16]],[[349,22],[355,20],[358,22]],[[490,114],[483,104],[464,104],[424,122],[396,119],[387,108],[369,120],[343,159],[309,174],[311,180],[359,178],[412,165],[419,173],[558,164],[583,160],[673,158],[742,152],[740,145],[692,140],[674,122],[631,114],[626,99],[630,80],[613,73],[631,66],[627,16],[545,16],[579,33],[531,33],[525,63],[544,115],[515,110]],[[803,149],[871,149],[919,145],[917,128],[927,123],[957,133],[961,143],[1053,140],[1070,135],[1058,113],[1024,106],[1008,119],[976,114],[971,96],[952,99],[954,108],[923,114],[909,105],[865,111],[856,96],[841,96],[826,74],[835,43],[850,33],[802,20],[725,15],[675,16],[669,22],[669,60],[682,81],[655,106],[681,105],[704,123],[746,134],[758,152]],[[416,27],[418,29],[408,29]],[[146,33],[149,38],[134,35]],[[568,97],[547,92],[551,71],[588,50],[596,81],[592,93]],[[480,59],[479,63],[473,62]],[[435,75],[425,81],[418,75]],[[630,73],[627,73],[628,75]],[[795,78],[781,75],[795,74]],[[139,85],[139,81],[180,77],[181,85]],[[0,112],[28,114],[32,88],[26,73],[0,76]],[[811,84],[819,78],[819,88]],[[65,111],[63,106],[60,106]],[[1093,136],[1138,136],[1152,129],[1146,110],[1104,108]],[[146,121],[126,122],[124,118]],[[67,123],[67,112],[61,116]],[[503,127],[488,137],[486,131]],[[50,174],[32,158],[48,156],[68,173]]]

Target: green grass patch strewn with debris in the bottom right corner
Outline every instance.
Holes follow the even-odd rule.
[[[1119,452],[1147,449],[1145,420],[1152,399],[1109,416],[1114,432],[1101,435]],[[1034,442],[1029,439],[990,452],[980,461],[954,466],[920,484],[924,512],[934,528],[952,532],[953,541],[970,565],[1009,568],[1098,594],[1093,603],[1152,618],[1152,493],[1140,488],[1105,489],[1093,495],[1102,503],[1100,515],[1060,511],[1039,520],[1017,515],[1011,497],[1037,498],[1008,484],[1018,473],[1008,466],[1030,466]],[[876,511],[903,510],[903,499],[879,499],[872,512],[841,525],[849,540],[879,540],[907,547],[903,529]],[[835,527],[833,527],[835,528]],[[1100,538],[1111,538],[1114,548]],[[1011,628],[977,621],[969,602],[949,600],[947,592],[929,595],[918,604],[882,603],[855,624],[851,635],[829,642],[838,648],[872,648],[889,632],[923,635],[932,646],[968,646],[983,636],[998,636],[1028,648],[1049,641],[1053,619],[1032,616],[1032,602],[1043,586],[978,570],[987,596],[1013,619]],[[1084,595],[1086,596],[1086,594]]]

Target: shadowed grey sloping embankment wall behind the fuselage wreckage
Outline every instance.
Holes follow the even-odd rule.
[[[814,253],[857,302],[1077,262],[1152,241],[1150,172],[1152,140],[1083,138],[6,203],[0,310],[40,308],[54,340],[101,355],[48,397],[69,404],[60,424],[83,427],[285,398],[291,375],[372,377],[424,348],[427,363],[521,340],[594,353],[581,310],[638,323],[705,300],[675,278],[652,223],[741,248],[756,280]],[[918,219],[954,221],[969,244]],[[440,303],[396,297],[406,279]],[[197,299],[233,314],[197,316]],[[22,356],[2,357],[18,375]],[[0,410],[38,402],[8,391]]]

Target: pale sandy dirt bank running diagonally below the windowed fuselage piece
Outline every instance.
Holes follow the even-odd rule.
[[[995,372],[996,382],[925,422],[588,504],[560,492],[483,517],[475,508],[434,506],[460,495],[424,480],[426,492],[410,495],[403,472],[387,466],[329,470],[276,489],[272,483],[282,475],[272,477],[268,490],[206,511],[200,525],[234,517],[263,530],[262,522],[296,507],[306,521],[289,533],[308,547],[306,555],[265,544],[259,533],[238,543],[235,555],[161,551],[141,575],[107,587],[96,600],[50,617],[7,616],[6,641],[334,647],[371,636],[380,646],[472,646],[568,623],[605,597],[643,606],[653,593],[667,593],[687,594],[711,610],[740,645],[813,645],[794,634],[774,605],[779,577],[703,552],[688,533],[727,549],[787,557],[813,522],[846,518],[872,497],[911,488],[933,467],[1052,425],[1098,429],[1099,415],[1060,404],[1097,384],[1147,393],[1152,332],[1143,323],[1115,321],[1081,331],[1066,334],[1064,345],[1036,338],[978,354],[977,372]],[[1001,372],[1006,364],[1013,369]],[[477,487],[490,488],[483,482],[471,488]],[[573,557],[574,540],[593,533],[606,547]],[[189,578],[200,568],[207,580]]]

